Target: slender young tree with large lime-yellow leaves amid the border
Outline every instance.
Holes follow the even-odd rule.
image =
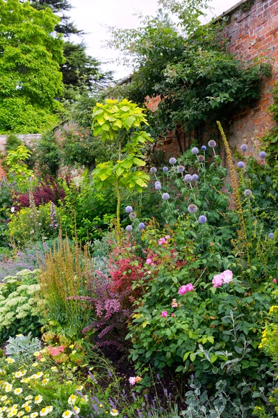
[[[97,103],[92,114],[92,129],[95,137],[115,141],[115,158],[97,164],[92,172],[98,188],[115,187],[117,193],[117,231],[120,231],[121,187],[142,192],[147,187],[149,176],[140,167],[145,166],[142,148],[152,141],[150,134],[140,130],[147,125],[144,109],[129,100],[108,99]]]

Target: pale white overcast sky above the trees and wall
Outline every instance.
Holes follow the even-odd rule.
[[[133,13],[139,11],[142,15],[156,15],[157,0],[72,0],[72,20],[78,29],[85,31],[83,40],[87,45],[87,52],[101,61],[112,61],[103,65],[104,70],[114,70],[115,79],[129,75],[131,70],[113,62],[117,52],[104,47],[108,39],[106,26],[117,26],[122,29],[139,26],[138,18]],[[211,0],[214,15],[238,3],[238,0]],[[79,39],[79,41],[81,38]]]

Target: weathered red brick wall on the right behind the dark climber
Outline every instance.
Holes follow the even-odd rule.
[[[243,0],[221,17],[229,18],[224,36],[229,39],[232,54],[243,61],[268,57],[273,65],[272,76],[263,81],[261,100],[243,113],[231,116],[229,132],[226,132],[233,148],[239,150],[240,144],[247,144],[248,153],[253,154],[254,149],[259,148],[260,138],[273,124],[268,107],[278,81],[278,0]],[[187,148],[188,138],[183,132],[179,132],[179,136],[183,148]],[[167,155],[179,155],[174,132],[163,141],[162,148]]]

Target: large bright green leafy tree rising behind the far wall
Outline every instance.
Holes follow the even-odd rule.
[[[0,132],[42,132],[58,121],[63,40],[58,17],[19,0],[0,0]]]

